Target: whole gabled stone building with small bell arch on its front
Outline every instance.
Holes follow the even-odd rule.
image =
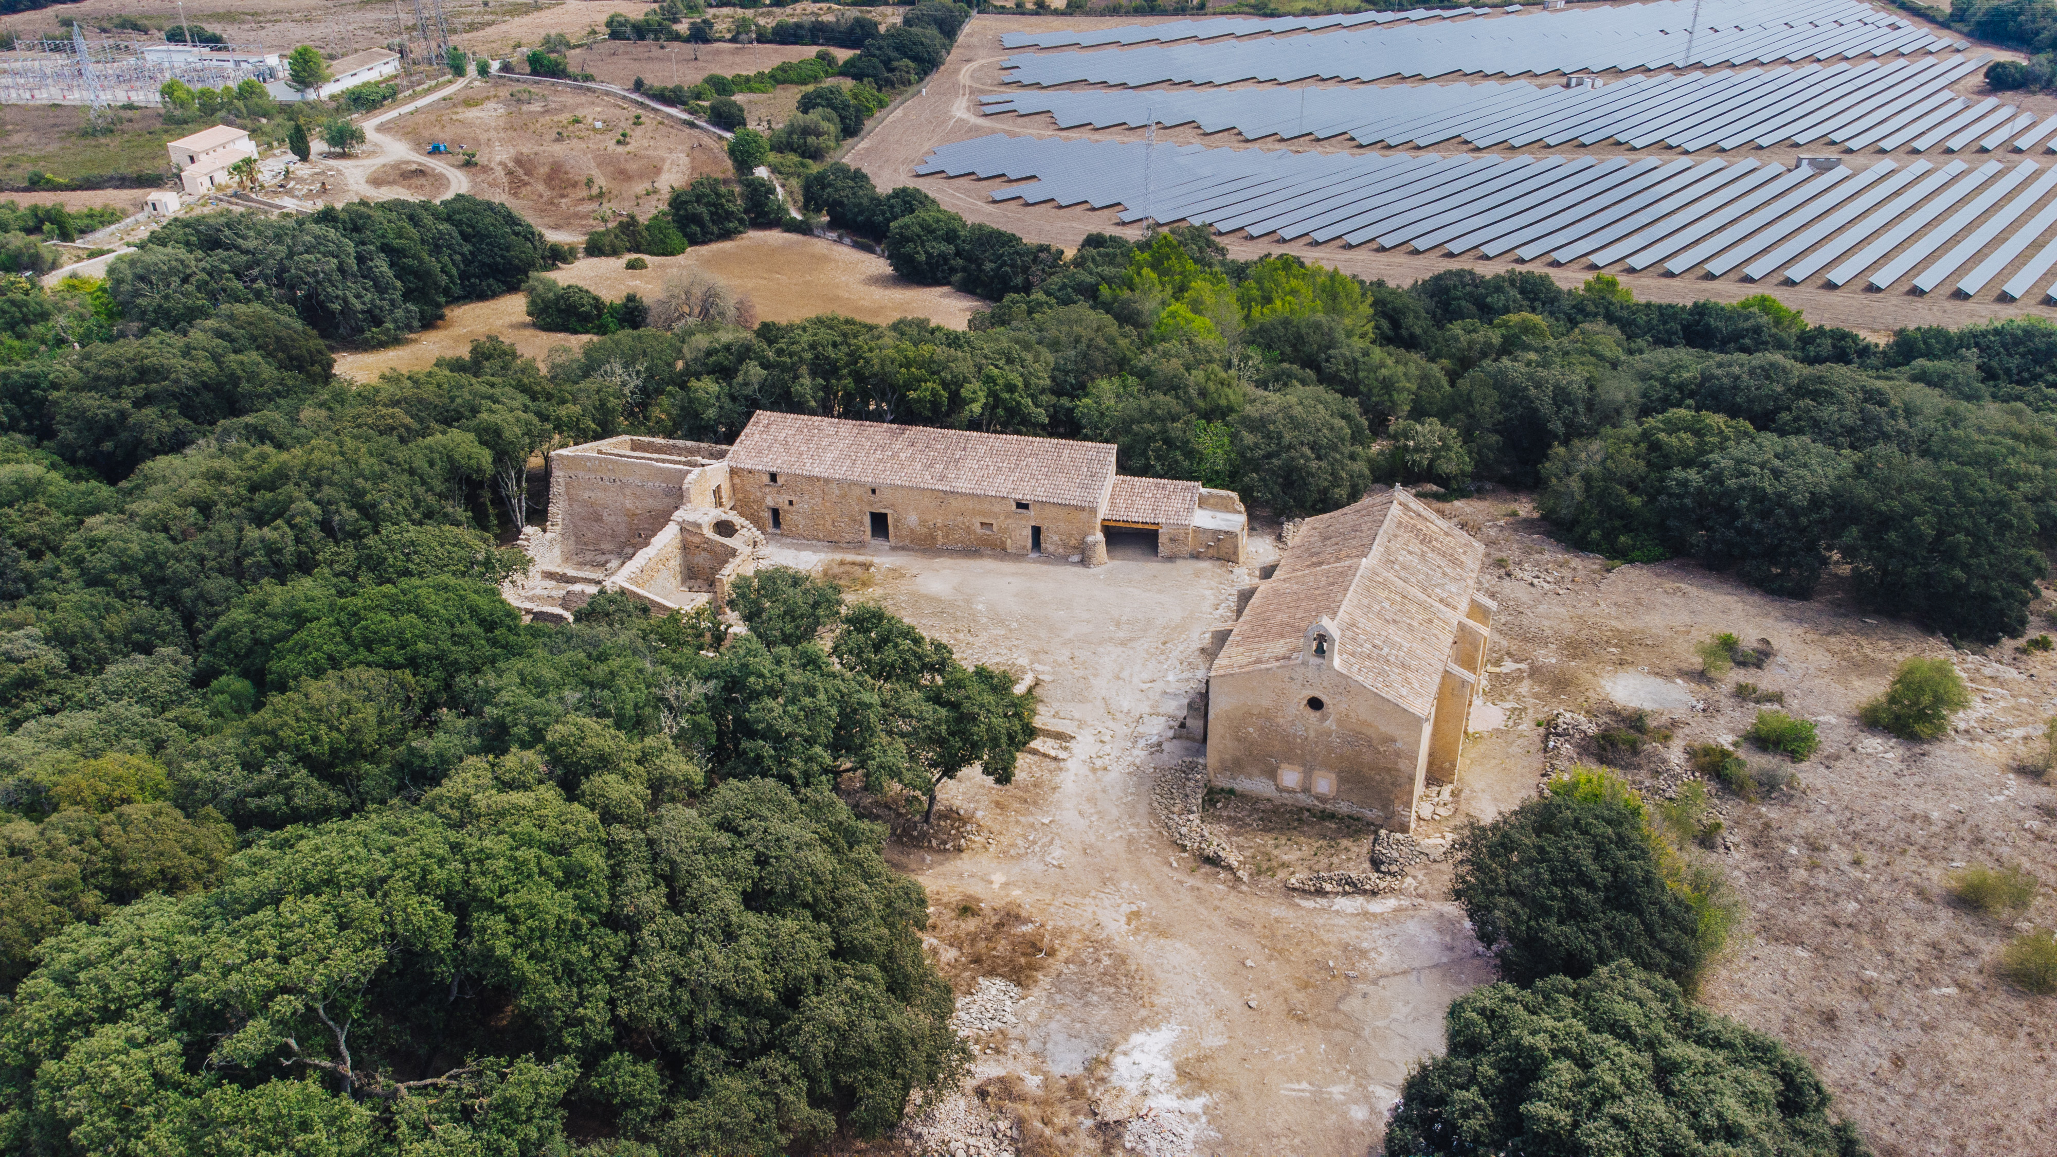
[[[1481,558],[1405,490],[1302,523],[1207,677],[1207,780],[1409,832],[1485,673]]]

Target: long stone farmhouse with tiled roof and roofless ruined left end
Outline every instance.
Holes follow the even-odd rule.
[[[1160,558],[1240,562],[1228,490],[1123,478],[1115,447],[759,410],[732,447],[617,436],[549,455],[549,519],[502,593],[566,622],[601,591],[656,613],[722,603],[771,537],[998,550],[1107,562],[1107,535]]]

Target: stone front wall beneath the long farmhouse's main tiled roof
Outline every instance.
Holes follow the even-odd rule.
[[[938,550],[1004,550],[1028,554],[1028,527],[1043,527],[1043,554],[1086,554],[1086,539],[1100,533],[1100,513],[1086,506],[1031,502],[1016,511],[1012,498],[946,494],[909,486],[866,486],[765,471],[728,471],[734,509],[767,535],[808,541],[870,541],[870,515],[885,513],[893,546]],[[769,511],[780,513],[778,527]]]

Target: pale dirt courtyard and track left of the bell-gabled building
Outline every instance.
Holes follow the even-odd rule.
[[[792,566],[829,556],[778,552]],[[1364,1157],[1407,1066],[1440,1048],[1448,1003],[1491,970],[1450,904],[1296,900],[1197,865],[1154,823],[1156,766],[1191,753],[1166,743],[1172,716],[1249,572],[1140,552],[1096,570],[870,558],[887,570],[852,597],[969,663],[1035,671],[1045,716],[1078,725],[1068,758],[1024,756],[1010,786],[946,784],[989,846],[893,850],[938,910],[1014,904],[1051,931],[1055,963],[981,1071],[1127,1089],[1154,1108],[1166,1155]]]

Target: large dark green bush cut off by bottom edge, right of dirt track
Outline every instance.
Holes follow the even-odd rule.
[[[1870,1155],[1804,1056],[1627,961],[1477,988],[1444,1038],[1407,1075],[1386,1153]]]

